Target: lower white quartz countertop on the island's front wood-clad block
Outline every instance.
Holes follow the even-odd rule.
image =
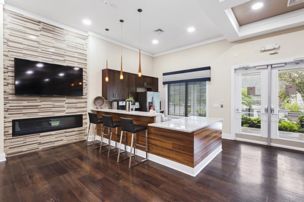
[[[183,132],[193,132],[222,120],[223,119],[220,118],[192,116],[192,117],[183,117],[180,119],[172,119],[170,121],[165,121],[165,122],[150,123],[148,124],[148,126],[164,128],[169,130],[183,131]]]

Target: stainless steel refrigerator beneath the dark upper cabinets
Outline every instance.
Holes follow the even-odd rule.
[[[139,111],[149,112],[150,107],[155,107],[155,111],[160,113],[161,111],[161,94],[160,92],[137,92],[137,100],[139,102]]]

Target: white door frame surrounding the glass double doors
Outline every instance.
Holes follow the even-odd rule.
[[[301,60],[299,60],[301,59]],[[237,139],[236,138],[236,132],[235,132],[235,120],[236,120],[236,116],[235,116],[235,112],[236,112],[236,109],[235,109],[235,101],[236,101],[236,98],[235,98],[235,93],[237,91],[237,85],[236,85],[236,82],[235,82],[235,71],[236,69],[240,69],[240,68],[250,68],[250,67],[264,67],[264,68],[267,68],[267,66],[269,65],[277,65],[277,64],[282,64],[282,63],[286,63],[286,65],[288,63],[296,63],[296,61],[298,62],[303,62],[304,61],[304,58],[292,58],[292,59],[281,59],[281,60],[275,60],[275,61],[264,61],[264,62],[258,62],[258,63],[251,63],[251,64],[245,64],[245,65],[234,65],[231,67],[231,135],[230,135],[230,139],[232,140],[235,140]],[[271,70],[270,70],[271,71]],[[269,72],[271,73],[271,72]],[[270,101],[270,99],[269,99]],[[270,106],[270,105],[269,105]],[[270,128],[270,127],[269,127]],[[268,143],[267,142],[262,142],[262,141],[255,141],[255,140],[245,140],[245,139],[240,139],[242,141],[248,141],[248,142],[252,142],[252,143],[258,143],[258,144],[265,144],[265,145],[273,145],[273,146],[280,146],[280,147],[285,147],[285,146],[282,146],[282,145],[276,145],[276,144],[271,144],[270,143],[270,136],[268,138]],[[285,148],[290,148],[289,146],[286,146]],[[292,149],[297,149],[296,147],[295,148],[292,148]],[[300,149],[297,149],[297,150],[300,150]]]

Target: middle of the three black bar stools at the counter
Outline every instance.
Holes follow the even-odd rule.
[[[101,135],[101,145],[100,145],[99,153],[104,153],[106,151],[106,150],[101,151],[101,147],[103,146],[102,141],[103,141],[103,135],[104,135],[104,128],[108,128],[109,142],[107,145],[109,146],[109,148],[107,151],[108,151],[108,157],[112,157],[112,156],[115,156],[118,154],[118,153],[116,153],[116,154],[113,154],[110,156],[110,150],[117,148],[117,141],[115,142],[115,147],[111,148],[111,139],[112,139],[113,128],[116,128],[116,134],[117,134],[117,128],[121,126],[121,123],[119,121],[113,121],[112,116],[109,116],[109,115],[102,115],[102,120],[103,120],[103,129],[102,129],[103,132]],[[119,140],[119,138],[117,138],[117,140]],[[104,145],[104,146],[107,146],[107,145]]]

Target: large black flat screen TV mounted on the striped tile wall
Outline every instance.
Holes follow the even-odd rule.
[[[82,96],[83,69],[15,58],[15,95]]]

